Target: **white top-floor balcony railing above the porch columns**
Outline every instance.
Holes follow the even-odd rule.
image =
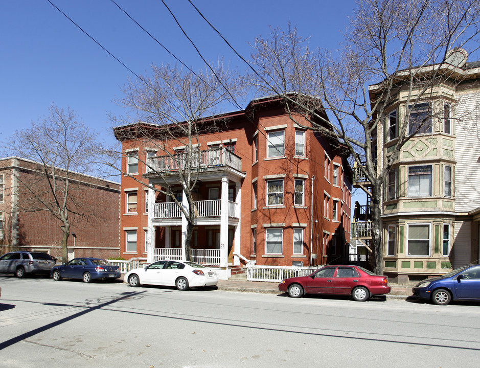
[[[242,159],[226,148],[176,153],[168,156],[155,156],[147,159],[147,173],[177,171],[179,169],[203,169],[215,166],[228,166],[242,170]]]

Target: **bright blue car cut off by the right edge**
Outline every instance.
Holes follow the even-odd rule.
[[[452,300],[480,301],[480,265],[460,267],[443,276],[423,280],[412,292],[438,305],[447,305]]]

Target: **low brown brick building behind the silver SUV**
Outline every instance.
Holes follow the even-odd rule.
[[[0,254],[36,250],[61,259],[61,222],[32,200],[31,191],[51,197],[42,170],[41,164],[31,160],[0,159]],[[76,238],[68,238],[68,258],[118,257],[120,184],[80,173],[68,176],[77,212],[69,215]]]

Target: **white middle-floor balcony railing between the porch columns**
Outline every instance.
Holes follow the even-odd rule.
[[[228,217],[238,218],[237,208],[236,202],[228,201]],[[221,210],[220,199],[195,201],[195,217],[219,217]],[[180,217],[181,210],[175,202],[155,203],[153,206],[153,218],[155,219]]]

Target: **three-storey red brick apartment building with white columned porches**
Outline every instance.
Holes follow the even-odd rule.
[[[193,260],[221,268],[347,262],[352,171],[346,151],[295,124],[280,100],[253,100],[203,124],[214,122],[219,129],[199,135],[194,145],[201,184]],[[140,129],[151,129],[150,142],[136,137]],[[185,257],[185,216],[171,198],[147,187],[167,179],[177,185],[178,202],[186,203],[169,156],[155,149],[163,144],[153,140],[158,129],[145,123],[114,128],[124,152],[120,247],[127,259]],[[179,142],[187,137],[166,143],[172,154],[185,149]]]

